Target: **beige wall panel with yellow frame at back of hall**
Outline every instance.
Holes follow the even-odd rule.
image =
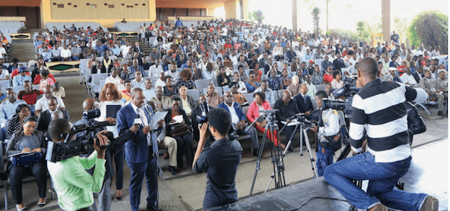
[[[86,3],[90,5],[86,6]],[[122,6],[122,3],[125,6]],[[64,4],[64,8],[58,8],[58,4]],[[96,4],[96,8],[91,8],[91,4]],[[109,0],[108,4],[113,4],[114,8],[108,8],[104,4],[105,1],[100,0],[42,0],[41,23],[44,26],[46,22],[98,22],[103,27],[113,27],[114,23],[122,21],[122,18],[127,21],[156,20],[155,0]],[[133,8],[127,8],[127,5],[132,5]]]

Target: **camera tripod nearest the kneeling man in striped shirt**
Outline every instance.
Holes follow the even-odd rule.
[[[311,162],[311,170],[313,172],[314,178],[317,178],[317,177],[319,177],[319,174],[317,173],[316,163],[314,162],[316,160],[314,160],[314,157],[312,156],[311,145],[309,144],[309,138],[308,138],[307,129],[306,129],[312,123],[307,118],[304,118],[304,116],[300,116],[300,115],[294,115],[294,116],[290,117],[289,119],[293,119],[293,121],[296,121],[296,123],[295,123],[295,129],[293,131],[293,134],[290,135],[288,144],[286,144],[286,148],[283,151],[283,157],[285,156],[286,151],[289,149],[290,145],[293,142],[293,138],[295,137],[295,132],[297,132],[297,129],[300,128],[300,156],[303,156],[303,137],[304,137],[305,144],[307,144],[307,150],[309,153],[309,161]],[[281,128],[280,133],[287,126],[288,126],[288,123],[286,123],[283,126],[283,128]]]

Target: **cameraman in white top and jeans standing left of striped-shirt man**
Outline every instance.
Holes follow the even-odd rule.
[[[320,90],[316,93],[316,105],[318,108],[322,107],[322,101],[328,98],[328,94],[324,90]],[[333,155],[335,154],[333,149],[331,149],[330,142],[332,139],[338,141],[340,139],[339,135],[339,115],[335,109],[326,109],[322,111],[322,122],[321,125],[314,125],[311,127],[316,133],[316,137],[319,139],[319,144],[317,147],[317,174],[322,177],[323,171],[328,165],[333,164]]]

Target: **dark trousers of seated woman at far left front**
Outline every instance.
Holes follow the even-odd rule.
[[[30,167],[11,166],[9,170],[9,185],[15,204],[23,202],[22,198],[22,179],[26,175],[33,175],[36,179],[39,198],[45,198],[47,189],[47,167],[44,159],[39,163],[34,163]]]

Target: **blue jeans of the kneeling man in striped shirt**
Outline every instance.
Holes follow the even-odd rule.
[[[366,152],[345,158],[326,168],[323,177],[342,196],[359,209],[368,209],[376,203],[398,210],[420,210],[428,196],[425,193],[408,193],[394,189],[411,164],[411,156],[403,161],[375,163],[375,156]],[[367,193],[353,182],[369,180]]]

